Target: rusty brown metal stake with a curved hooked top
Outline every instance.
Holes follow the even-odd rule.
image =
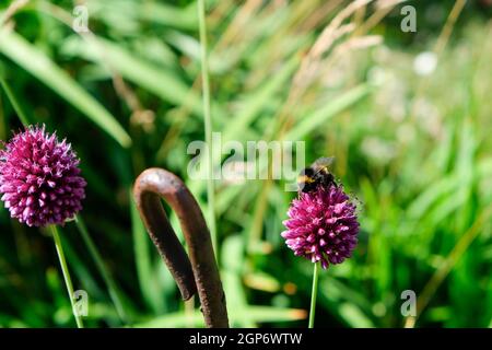
[[[137,208],[152,242],[173,275],[184,300],[197,291],[207,327],[229,327],[225,294],[203,214],[179,177],[149,168],[133,187]],[[162,207],[163,198],[176,212],[188,245],[189,258]]]

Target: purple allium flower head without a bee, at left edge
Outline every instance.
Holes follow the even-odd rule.
[[[16,133],[0,151],[0,194],[12,218],[28,226],[62,224],[82,209],[85,180],[66,140],[43,127]]]

